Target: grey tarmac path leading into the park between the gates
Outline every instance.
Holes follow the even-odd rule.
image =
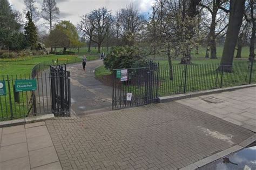
[[[96,79],[95,69],[103,65],[102,60],[87,62],[83,71],[82,62],[67,66],[71,74],[71,105],[78,116],[92,110],[112,108],[112,87]]]

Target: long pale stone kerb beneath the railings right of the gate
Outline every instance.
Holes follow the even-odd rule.
[[[198,97],[198,96],[220,93],[220,92],[225,92],[225,91],[234,91],[234,90],[244,89],[244,88],[254,87],[254,86],[256,86],[256,84],[241,85],[241,86],[235,86],[235,87],[225,87],[223,89],[212,89],[212,90],[191,92],[191,93],[185,93],[185,94],[176,94],[176,95],[172,95],[172,96],[158,97],[157,102],[158,103],[166,103],[166,102],[170,102],[170,101],[174,101],[174,100],[181,100],[181,99]]]

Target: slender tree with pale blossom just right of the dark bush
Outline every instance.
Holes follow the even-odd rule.
[[[159,0],[152,7],[147,26],[150,46],[153,54],[166,53],[171,80],[172,58],[181,57],[181,63],[190,64],[190,52],[192,47],[196,46],[196,4],[183,0]]]

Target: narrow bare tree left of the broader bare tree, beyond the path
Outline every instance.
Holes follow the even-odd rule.
[[[79,30],[83,32],[83,36],[89,39],[88,43],[88,52],[91,52],[91,43],[92,43],[92,38],[94,36],[94,31],[95,31],[95,19],[89,14],[85,14],[81,17],[80,21],[80,28]]]

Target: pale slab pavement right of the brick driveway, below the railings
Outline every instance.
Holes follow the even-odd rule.
[[[217,99],[209,103],[205,99]],[[177,101],[256,132],[256,87]]]

